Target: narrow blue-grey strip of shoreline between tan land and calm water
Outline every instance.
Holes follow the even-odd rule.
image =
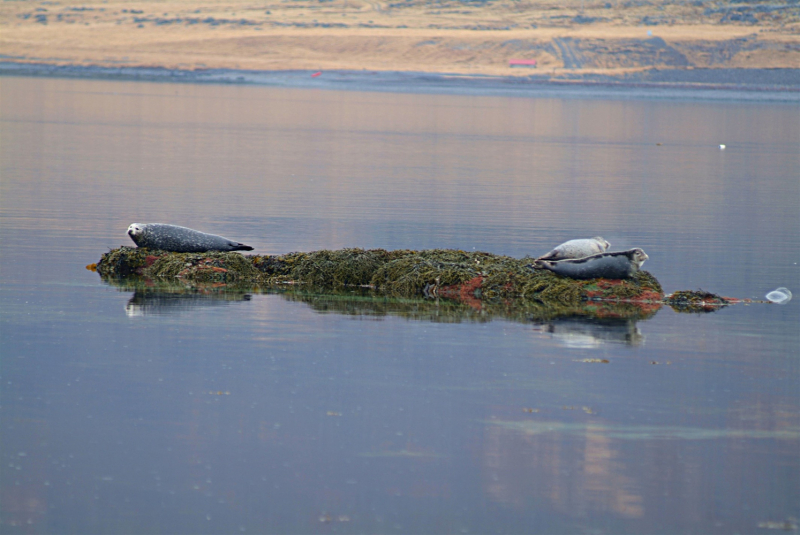
[[[2,58],[0,58],[2,59]],[[316,76],[315,76],[316,75]],[[681,99],[800,103],[800,69],[659,69],[612,74],[431,73],[106,67],[0,61],[0,76],[259,85],[297,89],[545,98]]]

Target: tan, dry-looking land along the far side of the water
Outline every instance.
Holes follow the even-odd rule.
[[[374,71],[791,88],[800,86],[800,4],[6,1],[0,52],[6,66],[39,73]],[[536,67],[513,68],[515,59]]]

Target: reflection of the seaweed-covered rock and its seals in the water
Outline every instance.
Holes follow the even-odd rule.
[[[348,316],[398,316],[416,321],[460,323],[508,320],[532,323],[535,330],[547,333],[561,344],[573,348],[592,348],[606,342],[631,345],[644,343],[637,321],[653,317],[659,305],[632,303],[586,303],[563,306],[523,299],[507,301],[459,302],[449,299],[394,298],[365,288],[339,292],[302,287],[237,287],[224,284],[195,286],[182,283],[153,282],[137,277],[103,278],[106,284],[122,291],[133,291],[125,305],[129,317],[180,314],[193,308],[248,302],[253,293],[277,294],[289,301],[309,305],[320,313]]]

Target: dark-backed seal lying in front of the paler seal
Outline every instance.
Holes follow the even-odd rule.
[[[641,249],[600,253],[573,260],[537,260],[535,269],[547,269],[571,279],[629,279],[650,258]]]

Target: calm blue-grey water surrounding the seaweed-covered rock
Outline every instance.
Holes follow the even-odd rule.
[[[0,532],[798,523],[798,299],[540,325],[84,269],[134,221],[262,254],[602,235],[668,292],[798,296],[796,105],[6,77],[0,121]]]

